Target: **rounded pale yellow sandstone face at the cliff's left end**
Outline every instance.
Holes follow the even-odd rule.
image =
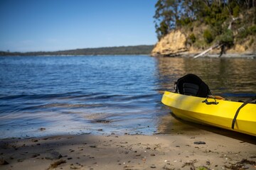
[[[188,51],[186,35],[180,30],[173,30],[156,43],[151,52],[152,56],[176,56]]]

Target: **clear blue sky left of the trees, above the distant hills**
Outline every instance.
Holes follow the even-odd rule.
[[[0,0],[0,51],[154,45],[157,0]]]

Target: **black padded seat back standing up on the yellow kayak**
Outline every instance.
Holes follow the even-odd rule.
[[[211,95],[208,85],[195,74],[187,74],[178,79],[174,87],[176,93],[206,98]]]

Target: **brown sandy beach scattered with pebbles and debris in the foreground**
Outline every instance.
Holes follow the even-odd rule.
[[[1,140],[0,169],[256,169],[255,137],[240,137],[247,141],[207,130]]]

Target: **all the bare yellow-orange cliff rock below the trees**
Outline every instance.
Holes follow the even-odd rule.
[[[195,32],[195,31],[194,31]],[[203,41],[203,31],[195,33],[197,39]],[[154,49],[151,52],[152,56],[180,56],[180,55],[195,55],[203,52],[204,50],[211,47],[211,45],[198,45],[193,44],[189,40],[189,35],[192,32],[172,30],[169,34],[161,38],[156,43]],[[246,38],[242,43],[236,42],[233,47],[225,50],[226,54],[254,54],[256,55],[256,36],[250,36]],[[210,54],[219,54],[220,49],[211,50]]]

